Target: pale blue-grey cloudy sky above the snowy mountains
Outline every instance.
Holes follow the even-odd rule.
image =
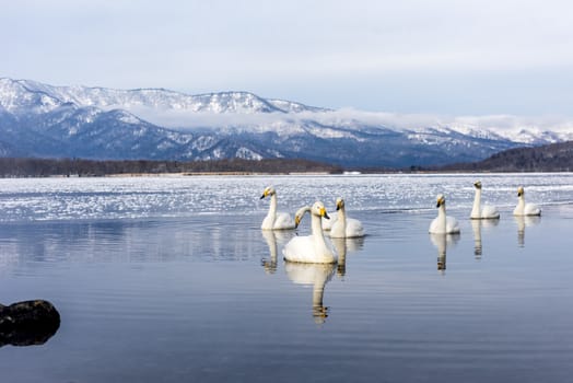
[[[0,77],[573,117],[568,0],[3,1]]]

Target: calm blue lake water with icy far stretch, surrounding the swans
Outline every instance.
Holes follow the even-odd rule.
[[[499,221],[468,219],[476,179]],[[270,184],[369,235],[284,263]],[[512,216],[519,185],[541,218]],[[438,193],[458,236],[428,234]],[[573,174],[0,179],[0,302],[61,315],[0,348],[2,382],[566,382],[572,229]]]

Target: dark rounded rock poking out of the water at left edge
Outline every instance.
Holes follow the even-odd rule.
[[[0,347],[45,344],[60,327],[60,314],[48,301],[0,304]]]

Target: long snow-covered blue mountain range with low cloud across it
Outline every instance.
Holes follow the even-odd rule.
[[[409,124],[248,92],[52,86],[0,79],[0,156],[211,160],[303,158],[344,166],[482,160],[573,139],[573,128]]]

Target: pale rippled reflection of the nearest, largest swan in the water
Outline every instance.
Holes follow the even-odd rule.
[[[328,307],[324,305],[325,286],[332,278],[337,264],[303,264],[285,262],[284,270],[291,281],[296,285],[313,287],[313,316],[317,324],[325,323]]]

